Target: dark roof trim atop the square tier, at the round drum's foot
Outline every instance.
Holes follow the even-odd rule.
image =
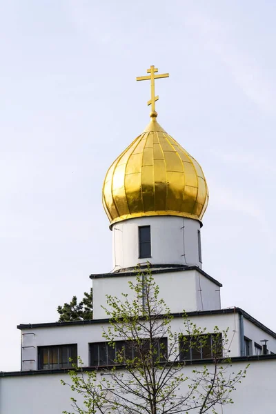
[[[143,270],[146,268],[146,266],[141,266],[140,269]],[[215,283],[220,288],[222,287],[222,284],[218,282],[216,279],[214,279],[212,276],[208,275],[208,273],[204,272],[204,270],[201,270],[201,268],[197,266],[181,266],[181,265],[173,265],[173,264],[153,264],[152,269],[150,270],[152,275],[155,275],[157,273],[169,273],[169,272],[181,272],[186,270],[197,270],[201,275],[205,276],[207,279],[209,279],[211,282]],[[125,276],[136,276],[137,271],[135,271],[135,268],[124,268],[123,271],[113,272],[113,273],[96,273],[90,275],[90,279],[99,279],[101,277],[125,277]]]

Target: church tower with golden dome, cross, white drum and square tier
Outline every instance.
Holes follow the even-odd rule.
[[[147,263],[152,274],[158,275],[160,293],[173,312],[220,307],[221,285],[201,270],[206,179],[197,161],[157,122],[154,81],[168,74],[156,72],[151,66],[150,75],[137,78],[151,80],[150,124],[115,159],[103,183],[103,206],[112,230],[113,270],[92,275],[99,293],[95,317],[104,316],[102,311],[97,313],[103,294],[125,292],[124,281],[135,277],[137,264],[143,268]]]

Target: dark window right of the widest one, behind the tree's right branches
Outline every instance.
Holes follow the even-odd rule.
[[[221,333],[181,335],[179,338],[180,360],[221,358],[223,354]]]

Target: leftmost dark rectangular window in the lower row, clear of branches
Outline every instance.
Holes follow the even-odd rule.
[[[77,344],[39,346],[38,369],[70,368],[70,358],[77,363]]]

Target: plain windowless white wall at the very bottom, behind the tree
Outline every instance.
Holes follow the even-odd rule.
[[[228,369],[237,373],[246,364],[233,362]],[[193,377],[195,367],[199,368],[199,365],[185,366],[185,375]],[[68,374],[0,377],[0,414],[61,414],[64,410],[72,411],[70,397],[77,395],[72,394],[68,386],[62,386],[61,379],[68,382]],[[217,410],[224,414],[274,414],[275,384],[276,359],[250,362],[246,378],[233,392],[234,404],[224,406],[223,411],[221,407]],[[184,382],[182,393],[186,386],[188,383]]]

